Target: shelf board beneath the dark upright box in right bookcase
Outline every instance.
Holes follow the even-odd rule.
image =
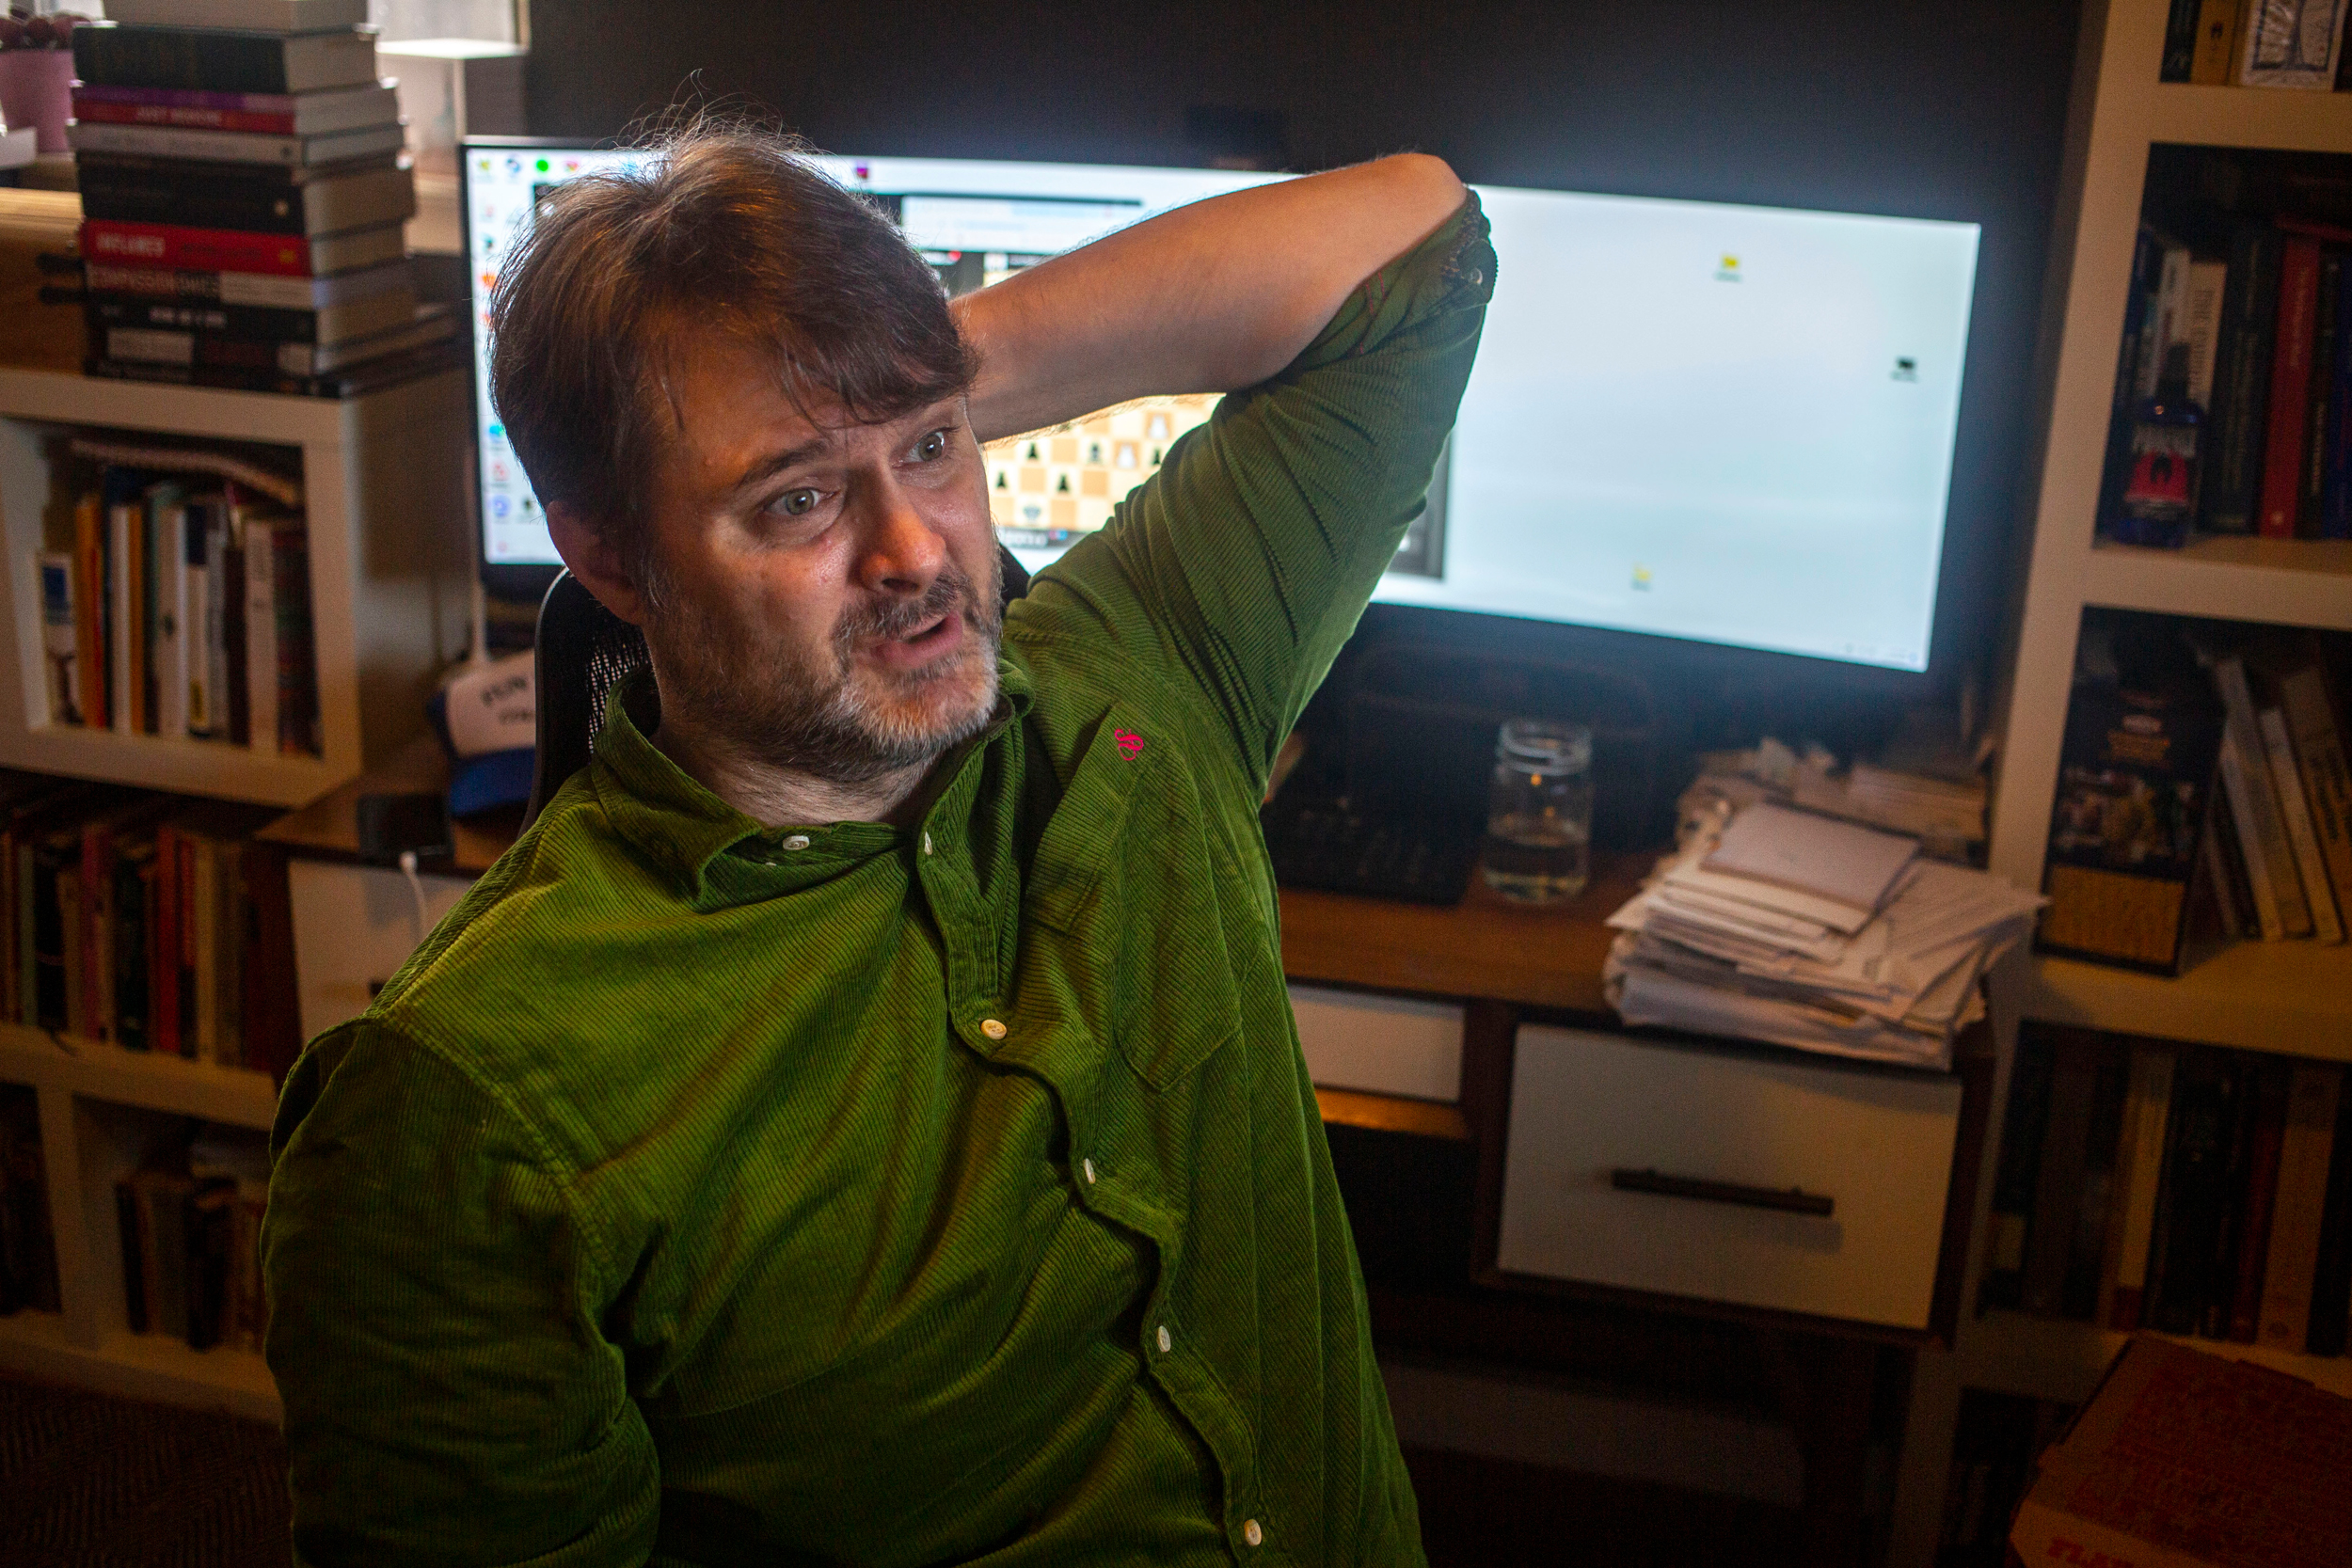
[[[2352,1063],[2352,947],[2232,943],[2178,980],[2037,957],[2025,1018]]]

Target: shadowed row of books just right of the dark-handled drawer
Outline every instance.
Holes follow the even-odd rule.
[[[2343,1063],[2025,1025],[1978,1307],[2345,1354]]]

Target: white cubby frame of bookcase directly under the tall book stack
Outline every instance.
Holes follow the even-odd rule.
[[[433,677],[466,646],[468,388],[459,369],[365,397],[0,369],[0,764],[155,790],[301,806],[355,778],[423,724]],[[310,536],[320,757],[52,724],[33,557],[54,538],[56,437],[188,435],[301,456]]]

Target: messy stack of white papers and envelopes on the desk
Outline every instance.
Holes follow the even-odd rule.
[[[2039,907],[1900,835],[1722,809],[1609,917],[1609,999],[1625,1023],[1947,1067]]]

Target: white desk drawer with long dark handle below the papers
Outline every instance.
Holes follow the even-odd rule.
[[[1529,1025],[1496,1265],[1926,1328],[1957,1131],[1957,1077]]]

